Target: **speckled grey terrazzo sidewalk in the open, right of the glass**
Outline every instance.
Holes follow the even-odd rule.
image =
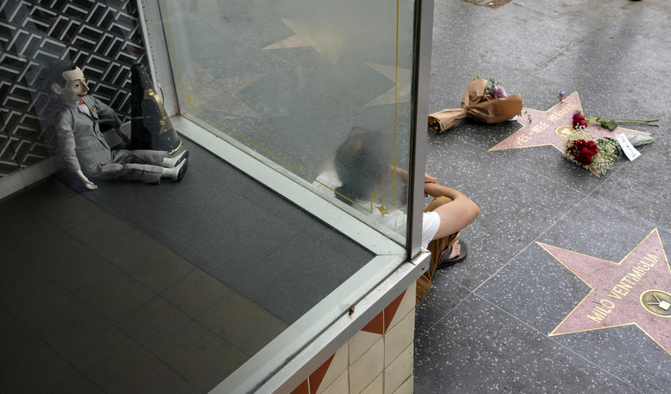
[[[464,120],[444,134],[428,134],[427,171],[474,199],[481,216],[462,232],[469,258],[437,274],[418,310],[414,390],[668,392],[670,319],[649,313],[640,301],[653,285],[636,282],[618,300],[603,293],[626,274],[609,274],[606,268],[615,264],[585,274],[584,256],[573,258],[577,266],[563,264],[538,243],[621,262],[621,269],[655,229],[669,250],[671,5],[492,3],[504,5],[436,1],[430,112],[460,106],[467,83],[479,75],[500,80],[508,94],[521,93],[528,108],[549,110],[558,92],[577,91],[586,116],[658,118],[661,127],[628,125],[652,133],[656,142],[601,177],[551,146],[489,151],[516,132],[518,122]],[[654,286],[671,293],[666,255],[659,248],[654,253],[661,257]],[[612,320],[597,323],[583,309],[591,304],[607,311],[604,299]],[[572,325],[572,333],[558,335],[560,323]],[[605,328],[610,325],[617,327]]]

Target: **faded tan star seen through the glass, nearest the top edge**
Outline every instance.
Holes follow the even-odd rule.
[[[296,34],[262,49],[312,47],[331,64],[338,62],[345,38],[336,29],[327,24],[310,24],[284,17],[281,20]]]

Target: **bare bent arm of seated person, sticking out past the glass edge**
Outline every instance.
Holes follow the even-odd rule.
[[[449,234],[463,230],[480,214],[479,207],[458,190],[428,182],[424,183],[424,191],[432,197],[445,196],[452,199],[451,202],[439,206],[434,211],[440,216],[440,227],[433,239],[447,237]]]

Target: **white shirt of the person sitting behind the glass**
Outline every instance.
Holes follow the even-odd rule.
[[[316,182],[313,182],[313,185],[319,185],[322,183],[323,185],[326,185],[327,187],[331,188],[332,190],[335,190],[338,188],[340,185],[342,185],[340,179],[338,178],[338,174],[336,173],[335,169],[327,169],[323,171],[319,176],[316,178]],[[370,206],[370,201],[365,202],[362,200],[357,200],[357,204],[353,204],[353,206],[357,209],[360,209],[363,212],[371,214],[367,209],[363,208],[364,206]],[[380,210],[374,209],[374,212],[372,213],[374,216],[374,219],[376,222],[381,223],[385,227],[393,230],[394,232],[397,232],[398,234],[401,234],[402,236],[405,237],[406,235],[406,228],[407,228],[407,213],[405,213],[401,209],[393,209],[390,211],[385,211],[384,214],[381,213]],[[425,212],[423,213],[422,217],[422,247],[427,248],[429,245],[429,242],[432,241],[433,237],[435,237],[436,233],[438,232],[438,228],[440,227],[440,216],[438,213],[435,212]]]

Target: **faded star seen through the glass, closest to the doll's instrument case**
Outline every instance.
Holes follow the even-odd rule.
[[[206,109],[223,111],[239,116],[259,117],[236,93],[255,83],[266,73],[249,74],[232,78],[215,79],[195,62],[191,62],[180,78],[180,86],[190,94],[186,99],[198,111]]]

